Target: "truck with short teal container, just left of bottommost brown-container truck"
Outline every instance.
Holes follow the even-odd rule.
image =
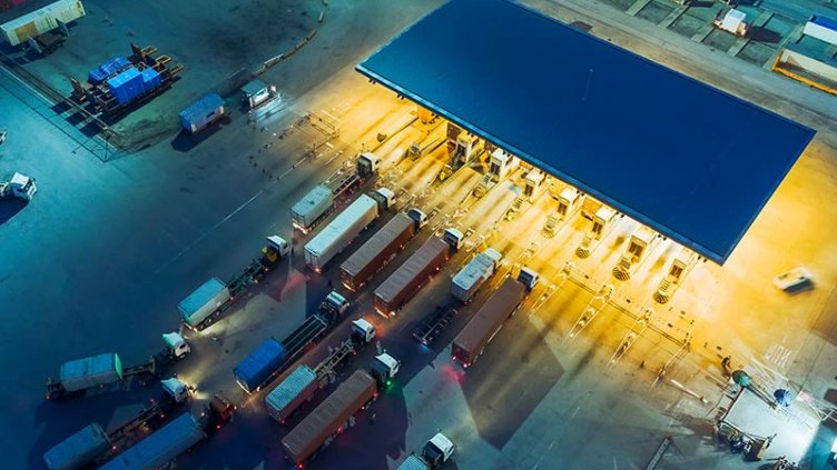
[[[372,342],[373,338],[375,338],[375,328],[368,321],[364,319],[352,321],[352,333],[348,340],[337,348],[329,348],[328,357],[314,369],[306,364],[297,366],[267,394],[265,398],[267,412],[278,423],[284,424],[285,420],[319,389],[323,377],[333,372],[334,368],[349,354]]]

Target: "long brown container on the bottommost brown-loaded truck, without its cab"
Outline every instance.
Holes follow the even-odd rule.
[[[341,432],[357,410],[374,400],[375,379],[356,370],[317,408],[282,440],[285,456],[294,464],[302,464],[332,436]]]

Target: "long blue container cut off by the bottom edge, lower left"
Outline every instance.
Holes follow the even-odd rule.
[[[156,470],[206,438],[191,413],[180,414],[107,462],[100,470]]]

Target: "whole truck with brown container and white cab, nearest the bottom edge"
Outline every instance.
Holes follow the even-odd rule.
[[[397,373],[397,366],[398,361],[384,353],[373,361],[373,373],[356,370],[282,439],[285,457],[302,468],[334,436],[351,426],[358,410],[366,409],[377,398],[378,391]]]

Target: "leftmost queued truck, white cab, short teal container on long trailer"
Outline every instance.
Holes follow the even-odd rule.
[[[109,388],[130,377],[141,380],[159,377],[167,366],[180,360],[191,350],[189,343],[178,332],[163,334],[166,347],[148,358],[148,361],[131,367],[122,367],[116,352],[93,356],[65,362],[59,379],[47,379],[47,400],[81,397],[89,390]]]

